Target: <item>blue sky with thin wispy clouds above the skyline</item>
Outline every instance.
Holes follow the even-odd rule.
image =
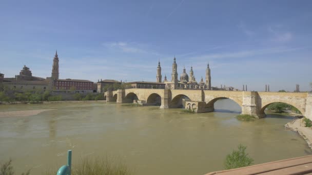
[[[1,1],[0,71],[60,78],[155,81],[191,65],[212,86],[308,91],[312,1]]]

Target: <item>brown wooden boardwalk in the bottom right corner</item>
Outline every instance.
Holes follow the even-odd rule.
[[[312,155],[292,159],[285,159],[275,162],[268,162],[243,168],[229,169],[223,171],[209,172],[206,175],[247,175],[247,174],[312,174]]]

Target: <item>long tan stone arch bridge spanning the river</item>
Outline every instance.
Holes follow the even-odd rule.
[[[214,111],[214,102],[228,98],[238,103],[242,114],[265,116],[265,108],[274,102],[295,106],[312,120],[312,94],[291,92],[209,91],[169,89],[126,89],[105,93],[107,102],[138,102],[143,105],[160,105],[160,108],[186,107],[197,113]]]

